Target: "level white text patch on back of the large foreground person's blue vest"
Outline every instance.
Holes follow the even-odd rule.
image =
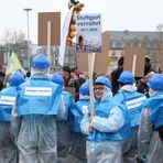
[[[52,88],[50,87],[25,87],[25,95],[28,96],[51,96]]]

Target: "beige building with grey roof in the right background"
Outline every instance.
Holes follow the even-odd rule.
[[[154,70],[161,66],[163,58],[162,42],[163,32],[145,31],[108,31],[110,34],[109,56],[124,55],[126,47],[143,47],[148,50]]]

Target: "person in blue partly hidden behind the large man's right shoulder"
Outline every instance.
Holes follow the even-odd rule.
[[[64,90],[64,78],[55,73],[52,76],[52,82],[58,84],[62,88],[62,106],[57,116],[57,163],[67,163],[69,160],[70,142],[72,142],[72,108],[75,100],[72,94]]]

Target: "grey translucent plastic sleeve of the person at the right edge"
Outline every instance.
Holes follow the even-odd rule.
[[[150,144],[150,138],[152,134],[152,122],[149,119],[150,116],[150,108],[144,108],[141,112],[140,117],[140,126],[138,130],[138,149],[139,154],[146,154],[149,144]]]

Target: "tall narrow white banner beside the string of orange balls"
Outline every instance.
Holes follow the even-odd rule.
[[[64,65],[64,58],[65,58],[65,48],[66,48],[66,39],[68,35],[68,29],[72,20],[72,14],[73,14],[74,7],[70,8],[68,13],[66,14],[65,22],[63,24],[63,30],[62,30],[62,41],[61,41],[61,46],[59,46],[59,54],[58,54],[58,64],[61,66]]]

